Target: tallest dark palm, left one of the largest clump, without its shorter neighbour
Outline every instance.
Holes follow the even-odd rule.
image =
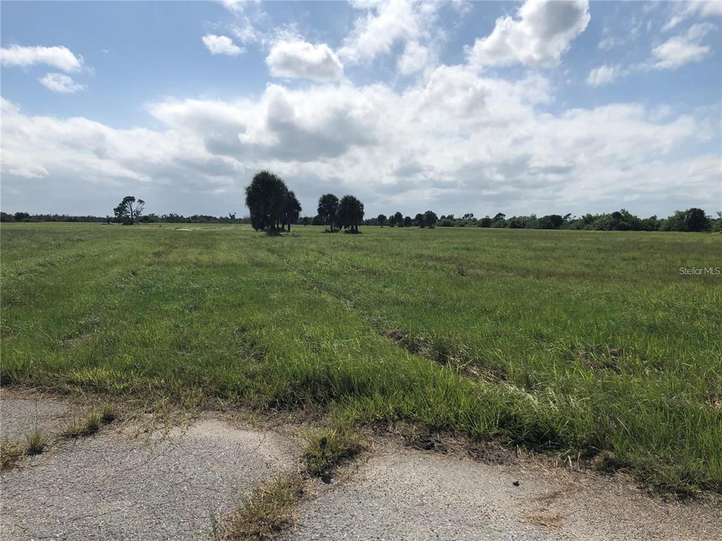
[[[251,225],[256,231],[276,231],[281,223],[288,188],[281,177],[269,171],[256,173],[245,187],[245,206],[251,211]]]

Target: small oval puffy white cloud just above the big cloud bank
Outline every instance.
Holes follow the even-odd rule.
[[[326,43],[279,41],[271,48],[266,64],[274,77],[331,82],[344,76],[344,66]]]

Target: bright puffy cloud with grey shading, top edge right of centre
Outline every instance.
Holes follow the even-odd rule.
[[[590,19],[587,0],[527,0],[516,15],[497,19],[490,35],[467,48],[471,65],[559,63],[562,53],[584,31]]]

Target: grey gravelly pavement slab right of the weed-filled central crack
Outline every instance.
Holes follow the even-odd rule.
[[[288,540],[719,541],[722,508],[662,503],[597,475],[390,446],[305,503]]]

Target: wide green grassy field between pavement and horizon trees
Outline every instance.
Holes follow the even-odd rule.
[[[189,228],[191,231],[178,230]],[[4,384],[329,410],[722,488],[712,234],[3,225]]]

